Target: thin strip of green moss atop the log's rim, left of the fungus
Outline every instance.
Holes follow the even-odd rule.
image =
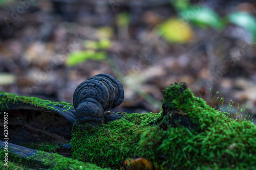
[[[52,102],[49,100],[42,100],[35,97],[27,97],[27,96],[20,96],[14,93],[6,93],[3,91],[0,91],[0,110],[8,109],[8,104],[17,104],[18,101],[21,101],[26,104],[30,104],[31,106],[37,106],[47,109],[54,109],[53,106],[60,106],[64,105],[64,108],[67,108],[69,110],[73,105],[66,102]],[[67,111],[63,110],[63,111]]]

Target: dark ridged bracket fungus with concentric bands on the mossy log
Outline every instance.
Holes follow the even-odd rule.
[[[113,76],[98,74],[77,86],[73,94],[76,119],[97,126],[104,122],[104,111],[123,102],[122,84]]]

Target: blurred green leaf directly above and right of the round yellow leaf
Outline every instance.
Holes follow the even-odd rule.
[[[189,20],[200,27],[210,26],[220,30],[223,25],[219,15],[207,7],[191,6],[180,13],[182,20]]]

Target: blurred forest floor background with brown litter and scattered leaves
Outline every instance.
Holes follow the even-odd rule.
[[[256,116],[255,1],[0,3],[0,91],[72,103],[103,72],[124,86],[118,111],[159,112],[162,90],[184,81]]]

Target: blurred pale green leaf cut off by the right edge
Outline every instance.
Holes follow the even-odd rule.
[[[228,19],[231,23],[249,31],[253,36],[253,40],[256,40],[256,19],[251,14],[234,12],[228,15]]]

